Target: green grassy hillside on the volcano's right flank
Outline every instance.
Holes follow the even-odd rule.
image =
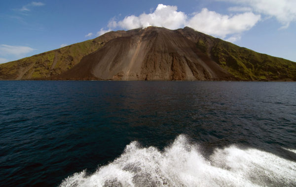
[[[196,46],[241,80],[296,81],[296,63],[204,35]]]

